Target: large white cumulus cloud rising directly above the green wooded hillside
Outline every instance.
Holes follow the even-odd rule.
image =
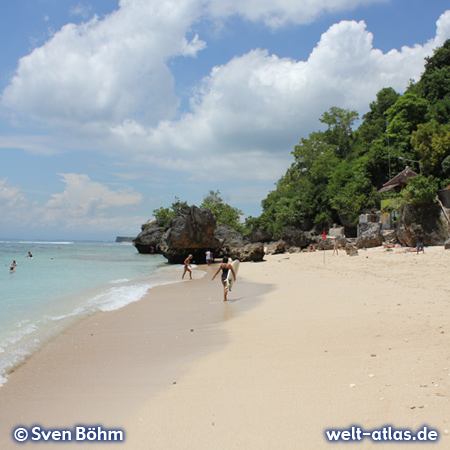
[[[128,120],[111,128],[114,141],[133,148],[140,162],[197,179],[217,171],[230,179],[273,179],[330,107],[363,114],[380,89],[403,92],[419,79],[424,58],[450,37],[449,24],[450,11],[435,39],[388,53],[373,47],[363,21],[331,26],[307,61],[253,50],[212,69],[191,99],[191,113],[152,128]]]

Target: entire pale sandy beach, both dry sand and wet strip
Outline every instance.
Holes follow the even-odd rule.
[[[126,440],[51,448],[393,445],[325,438],[352,426],[426,426],[439,440],[413,447],[448,448],[450,252],[265,259],[241,264],[227,303],[211,282],[217,266],[201,266],[193,281],[152,289],[52,340],[0,388],[0,447],[20,445],[11,437],[19,425],[86,424],[120,428]]]

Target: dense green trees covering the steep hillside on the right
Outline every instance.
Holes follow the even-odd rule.
[[[450,40],[426,58],[421,79],[403,95],[378,92],[369,112],[333,107],[292,151],[293,163],[262,201],[263,212],[246,220],[280,236],[286,226],[321,230],[355,225],[364,210],[378,210],[383,183],[409,165],[420,173],[397,205],[434,200],[450,184]],[[391,194],[392,195],[392,194]]]

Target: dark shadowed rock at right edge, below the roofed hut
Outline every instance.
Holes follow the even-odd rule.
[[[444,245],[449,238],[449,225],[439,205],[426,208],[405,206],[397,222],[397,240],[408,247],[415,247],[416,236],[422,234],[425,245]]]

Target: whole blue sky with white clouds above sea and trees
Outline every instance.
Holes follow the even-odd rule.
[[[259,215],[323,112],[419,79],[450,5],[16,0],[0,33],[0,239],[114,240],[209,190]]]

